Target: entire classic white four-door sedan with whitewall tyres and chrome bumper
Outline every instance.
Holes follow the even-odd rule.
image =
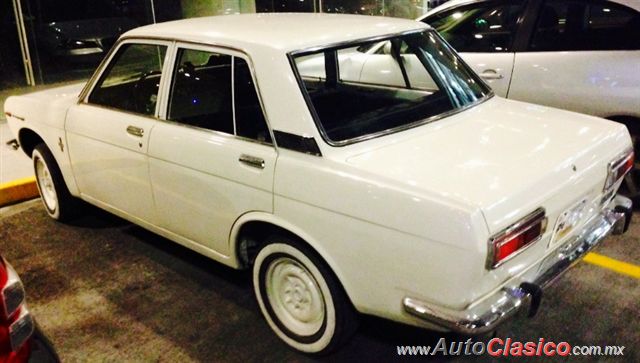
[[[442,331],[535,313],[631,202],[618,123],[505,100],[429,26],[323,14],[124,34],[83,85],[5,105],[42,200],[78,200],[234,268],[290,346],[356,312]]]

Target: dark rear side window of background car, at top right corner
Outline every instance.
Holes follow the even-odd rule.
[[[548,0],[529,50],[637,50],[640,13],[603,1]]]

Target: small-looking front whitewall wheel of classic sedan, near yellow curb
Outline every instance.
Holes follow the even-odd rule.
[[[38,144],[31,154],[36,184],[47,214],[59,221],[68,220],[75,198],[64,183],[60,168],[45,144]]]

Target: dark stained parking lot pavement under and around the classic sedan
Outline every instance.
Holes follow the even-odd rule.
[[[634,218],[626,235],[610,237],[596,252],[640,265],[640,214]],[[0,251],[21,275],[29,306],[64,362],[388,362],[411,359],[398,356],[398,345],[467,339],[363,317],[338,353],[299,354],[262,319],[248,273],[93,208],[72,224],[48,218],[39,200],[0,209]],[[507,323],[497,337],[625,346],[624,357],[589,360],[640,361],[639,279],[581,262],[544,295],[536,317]]]

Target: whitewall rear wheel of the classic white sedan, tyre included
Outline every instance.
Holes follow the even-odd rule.
[[[329,353],[355,332],[356,313],[342,286],[300,243],[268,239],[253,266],[253,285],[271,329],[299,351]]]

